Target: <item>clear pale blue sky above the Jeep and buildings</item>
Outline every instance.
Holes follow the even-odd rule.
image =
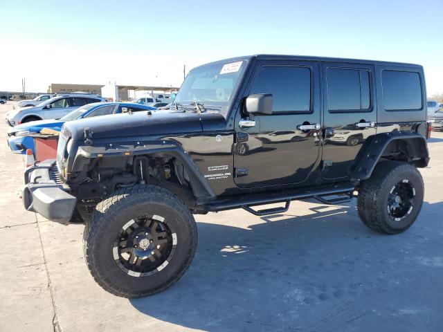
[[[443,93],[443,0],[0,0],[0,91],[51,83],[172,85],[257,53],[424,66]]]

